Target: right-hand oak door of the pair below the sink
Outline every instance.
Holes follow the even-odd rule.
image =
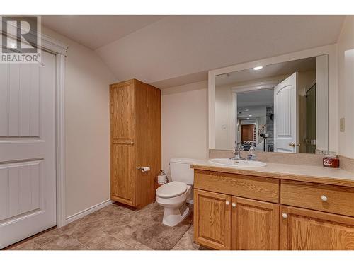
[[[279,205],[232,197],[232,249],[279,249]]]

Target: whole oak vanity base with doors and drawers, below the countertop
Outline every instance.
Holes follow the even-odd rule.
[[[194,176],[194,238],[200,245],[354,249],[354,187],[200,169]]]

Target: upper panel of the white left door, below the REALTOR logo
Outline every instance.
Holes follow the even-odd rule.
[[[1,64],[0,137],[39,137],[40,67]]]

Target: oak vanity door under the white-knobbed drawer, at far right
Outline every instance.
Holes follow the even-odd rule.
[[[354,218],[281,206],[280,249],[353,250]]]

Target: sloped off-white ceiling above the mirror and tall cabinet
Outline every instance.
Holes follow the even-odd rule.
[[[144,27],[116,35],[115,41],[96,52],[117,81],[137,78],[165,88],[205,80],[210,69],[336,43],[344,17],[164,16],[144,20]],[[124,24],[120,27],[130,26]],[[106,34],[114,35],[114,30],[104,30],[108,25],[100,24],[105,42]],[[100,45],[95,35],[86,37],[86,46]]]

